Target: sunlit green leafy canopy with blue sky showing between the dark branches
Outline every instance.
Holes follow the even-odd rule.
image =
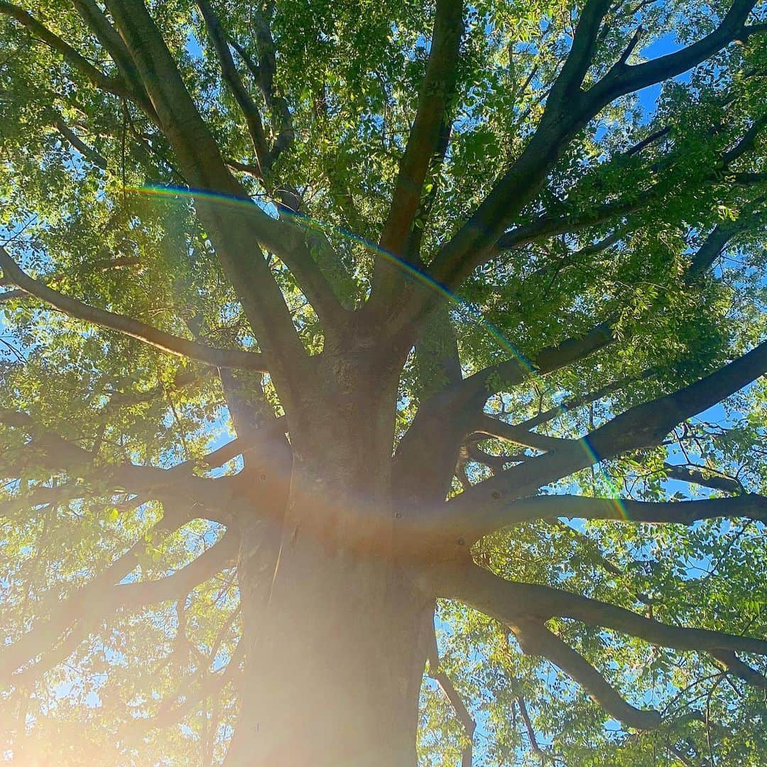
[[[254,166],[242,114],[222,81],[197,6],[189,0],[149,5],[222,156]],[[298,190],[302,215],[337,253],[337,262],[324,265],[337,295],[348,307],[360,306],[370,291],[375,258],[366,243],[377,241],[387,216],[426,67],[433,4],[256,5],[272,13],[275,91],[290,107],[296,140],[267,179],[238,171],[240,179],[270,214],[276,211],[276,186]],[[644,36],[630,63],[672,32],[680,44],[701,38],[729,3],[633,6],[614,4],[586,87],[614,64],[638,25]],[[71,4],[31,0],[25,8],[91,64],[116,74]],[[482,0],[466,8],[449,104],[449,150],[430,170],[416,219],[424,265],[527,146],[568,52],[579,8],[562,0]],[[763,10],[757,8],[759,18]],[[219,4],[216,11],[229,37],[257,59],[251,5]],[[244,62],[235,59],[273,140],[279,127],[275,110],[258,94]],[[507,359],[510,348],[533,359],[610,320],[617,343],[588,359],[510,391],[500,374],[488,381],[487,411],[514,423],[614,381],[630,382],[538,429],[573,438],[700,378],[764,337],[763,227],[742,232],[713,272],[694,281],[684,275],[716,225],[737,221],[749,205],[764,205],[763,181],[746,185],[736,179],[767,170],[763,135],[732,167],[719,170],[718,163],[767,114],[765,64],[767,52],[757,35],[689,77],[663,84],[649,111],[647,102],[631,94],[578,132],[545,189],[514,225],[542,216],[587,216],[610,202],[647,197],[647,204],[617,222],[597,221],[521,245],[473,272],[449,308],[455,339],[428,328],[408,357],[397,438],[420,403],[448,383],[444,358],[455,348],[464,374],[472,374]],[[258,347],[189,199],[147,192],[183,179],[166,137],[135,104],[98,90],[60,54],[0,15],[0,111],[0,231],[26,272],[65,295],[176,336],[223,348]],[[60,123],[87,153],[67,140]],[[662,135],[653,139],[659,130]],[[644,140],[646,146],[632,150]],[[594,248],[616,229],[609,247]],[[319,260],[320,251],[315,247],[312,257]],[[325,339],[317,313],[288,267],[274,255],[269,264],[301,341],[312,354],[320,353]],[[2,489],[0,601],[3,641],[10,644],[28,630],[31,608],[44,611],[71,596],[137,541],[146,545],[129,580],[170,574],[213,545],[219,527],[200,520],[171,535],[152,532],[163,505],[100,486],[97,476],[123,461],[169,467],[199,460],[232,431],[232,423],[218,377],[201,364],[72,321],[25,297],[0,306],[7,346],[0,405],[25,411],[95,456],[83,476],[74,469],[51,476],[19,430],[2,428],[0,464],[12,481]],[[652,375],[643,377],[648,370]],[[268,380],[265,390],[278,409]],[[748,492],[767,493],[765,403],[767,387],[754,384],[716,413],[686,424],[669,444],[604,462],[600,471],[584,470],[545,492],[661,500],[684,491],[688,497],[687,486],[667,480],[663,464],[670,460],[736,477]],[[492,455],[505,449],[495,439],[479,446]],[[222,471],[237,468],[232,461]],[[204,467],[197,473],[211,476]],[[484,464],[466,465],[470,482],[490,474]],[[87,499],[78,494],[25,505],[35,489],[72,482],[87,486]],[[457,483],[453,489],[458,492]],[[718,494],[693,490],[693,497]],[[757,522],[711,520],[686,527],[546,520],[486,538],[474,555],[506,578],[651,612],[671,624],[767,632],[765,528]],[[2,693],[0,716],[12,723],[19,758],[24,743],[34,739],[35,753],[67,765],[221,762],[236,721],[235,685],[224,686],[215,700],[204,697],[166,729],[143,723],[182,702],[229,660],[238,610],[236,578],[226,570],[183,601],[117,611],[107,628],[94,627],[72,648],[62,659],[66,663],[31,679],[19,695]],[[767,753],[763,696],[725,678],[703,654],[671,653],[571,621],[550,624],[627,699],[668,715],[656,732],[630,732],[551,663],[523,655],[509,632],[489,618],[444,603],[437,625],[443,668],[478,723],[476,764],[535,765],[548,759],[578,767],[756,767]],[[750,660],[758,667],[758,659]],[[691,719],[691,711],[700,716]],[[465,733],[428,680],[420,724],[420,763],[458,764]]]

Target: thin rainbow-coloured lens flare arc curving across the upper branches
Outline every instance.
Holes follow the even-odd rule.
[[[247,212],[249,210],[258,210],[258,212],[266,213],[264,208],[258,205],[258,203],[254,202],[252,199],[232,197],[223,194],[206,192],[200,189],[186,189],[176,186],[148,185],[127,187],[126,192],[172,200],[205,200],[206,202],[213,202],[219,206],[235,208],[239,211]],[[423,272],[412,264],[407,263],[397,255],[394,255],[393,253],[380,248],[380,246],[375,242],[371,242],[364,237],[360,237],[360,235],[355,235],[353,232],[348,232],[345,229],[341,229],[341,227],[324,224],[323,222],[318,221],[318,219],[311,218],[311,216],[306,216],[302,213],[296,213],[285,208],[281,208],[280,213],[283,216],[287,216],[293,219],[296,224],[303,226],[306,229],[317,229],[320,232],[336,235],[337,237],[341,237],[343,239],[354,242],[357,245],[360,245],[368,252],[372,253],[376,258],[380,258],[386,262],[389,262],[391,265],[399,269],[400,272],[403,272],[403,274],[407,275],[407,278],[410,280],[423,285],[423,287],[427,290],[432,291],[436,295],[439,295],[439,297],[446,301],[449,305],[453,306],[458,311],[462,311],[464,314],[466,314],[466,317],[483,328],[490,336],[495,339],[499,347],[505,351],[506,354],[512,357],[512,359],[515,360],[515,362],[519,365],[519,367],[522,368],[522,370],[525,370],[525,373],[528,374],[528,376],[535,377],[536,380],[541,382],[543,390],[551,393],[551,387],[548,387],[548,385],[545,383],[545,379],[538,374],[537,370],[535,370],[535,366],[532,364],[531,360],[529,360],[529,358],[526,357],[525,354],[523,354],[522,351],[520,351],[515,346],[515,344],[512,344],[512,342],[509,341],[507,337],[505,337],[499,328],[496,328],[495,325],[487,321],[486,318],[482,317],[482,314],[476,310],[476,308],[472,307],[468,301],[464,301],[462,298],[453,293],[453,291],[450,291],[426,272]],[[268,213],[266,215],[268,215]],[[594,449],[592,449],[591,444],[588,441],[588,437],[581,437],[578,439],[578,443],[581,445],[584,453],[586,453],[588,456],[591,466],[600,467],[599,470],[601,472],[601,476],[603,477],[607,487],[610,488],[613,495],[611,501],[614,503],[618,515],[620,515],[622,519],[629,520],[630,517],[627,513],[623,499],[620,497],[619,490],[615,486],[615,483],[612,481],[611,477],[607,475],[607,472],[605,472],[604,469],[601,469],[600,458],[597,453],[594,452]]]

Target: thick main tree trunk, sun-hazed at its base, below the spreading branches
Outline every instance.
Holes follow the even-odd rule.
[[[393,396],[373,417],[366,396],[295,426],[278,545],[263,528],[243,536],[249,658],[231,764],[416,764],[433,603],[392,551]]]

